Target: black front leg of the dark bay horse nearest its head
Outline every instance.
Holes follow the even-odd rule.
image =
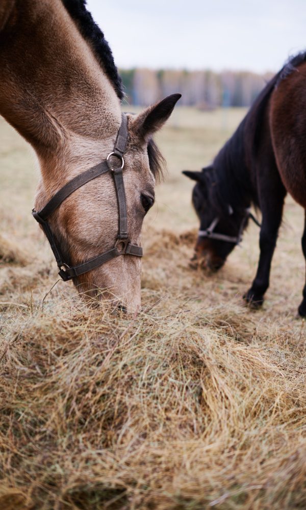
[[[244,299],[255,307],[262,305],[264,294],[269,287],[271,261],[276,246],[279,225],[282,222],[284,199],[286,190],[279,179],[278,174],[271,175],[269,169],[268,179],[262,180],[260,185],[262,226],[260,230],[260,258],[256,276],[251,288],[243,296]],[[271,172],[271,173],[270,173]]]

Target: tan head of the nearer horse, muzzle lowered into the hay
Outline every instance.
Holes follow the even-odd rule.
[[[62,180],[64,187],[50,199],[48,183],[40,185],[35,210],[43,209],[34,216],[48,239],[51,236],[49,242],[60,259],[59,274],[72,279],[86,295],[111,298],[128,309],[140,305],[142,224],[154,204],[155,182],[164,163],[152,135],[168,119],[180,97],[173,94],[138,115],[123,115],[119,131],[116,122],[114,134],[103,141],[90,141],[88,147],[84,141],[80,147],[73,143],[73,159]],[[71,151],[71,144],[67,150]],[[84,154],[84,172],[79,173]],[[97,163],[97,154],[98,167],[88,169],[90,161]],[[79,186],[80,176],[87,173],[90,180]],[[68,191],[62,192],[66,188]],[[52,207],[58,195],[60,199]]]

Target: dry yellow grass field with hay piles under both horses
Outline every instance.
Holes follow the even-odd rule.
[[[244,307],[258,227],[215,275],[189,268],[182,169],[244,115],[177,109],[144,226],[143,309],[88,309],[31,217],[38,171],[0,121],[0,509],[306,507],[303,214],[287,201],[263,310]]]

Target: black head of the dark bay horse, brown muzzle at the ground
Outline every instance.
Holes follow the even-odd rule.
[[[184,170],[184,175],[196,182],[192,190],[192,204],[200,220],[200,228],[191,261],[192,267],[208,267],[217,271],[241,241],[249,212],[233,209],[223,203],[212,166],[200,172]]]

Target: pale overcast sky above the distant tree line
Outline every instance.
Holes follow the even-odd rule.
[[[306,0],[88,0],[119,67],[278,70],[306,49]]]

